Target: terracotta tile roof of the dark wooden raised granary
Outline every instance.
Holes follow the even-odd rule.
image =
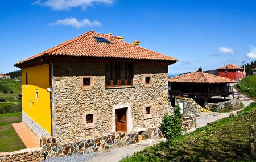
[[[190,83],[228,83],[237,82],[229,78],[215,76],[204,72],[192,72],[169,78],[169,82],[190,82]]]

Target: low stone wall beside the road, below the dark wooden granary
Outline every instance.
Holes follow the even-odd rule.
[[[239,109],[240,108],[240,101],[239,99],[230,99],[229,101],[218,102],[218,103],[208,103],[204,108],[208,110],[212,110],[216,108],[217,111],[229,109]]]

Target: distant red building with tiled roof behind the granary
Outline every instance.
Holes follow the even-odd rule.
[[[243,68],[238,67],[234,64],[228,64],[224,67],[220,67],[217,69],[218,76],[229,78],[232,80],[241,80],[244,76]]]

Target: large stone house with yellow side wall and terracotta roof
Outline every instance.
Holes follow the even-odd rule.
[[[168,65],[177,61],[122,37],[86,32],[16,63],[22,121],[61,143],[159,127]]]

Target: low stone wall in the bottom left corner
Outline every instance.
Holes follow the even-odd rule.
[[[43,148],[27,148],[14,152],[2,152],[0,153],[0,162],[11,161],[43,161],[44,149]]]

